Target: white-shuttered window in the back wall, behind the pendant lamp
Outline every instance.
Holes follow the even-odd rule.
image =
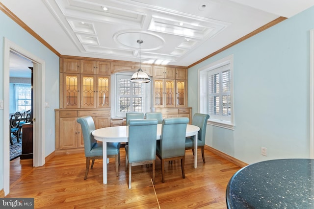
[[[116,116],[146,112],[146,85],[130,82],[131,75],[116,75]]]

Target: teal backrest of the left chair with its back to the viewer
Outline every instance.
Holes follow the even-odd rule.
[[[156,159],[157,119],[129,122],[130,163]]]

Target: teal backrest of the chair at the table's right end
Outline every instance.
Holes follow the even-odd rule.
[[[192,125],[196,125],[200,128],[197,134],[199,146],[205,145],[206,125],[208,118],[209,115],[201,113],[195,113],[192,118]]]

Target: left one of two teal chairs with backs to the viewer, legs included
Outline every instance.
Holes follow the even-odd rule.
[[[131,167],[153,164],[152,180],[155,182],[157,119],[129,121],[129,144],[126,150],[126,171],[129,168],[129,189],[131,189]],[[128,166],[129,165],[129,166]]]

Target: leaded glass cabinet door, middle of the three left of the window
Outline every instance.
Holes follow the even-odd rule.
[[[81,75],[81,108],[92,108],[96,105],[95,76]]]

